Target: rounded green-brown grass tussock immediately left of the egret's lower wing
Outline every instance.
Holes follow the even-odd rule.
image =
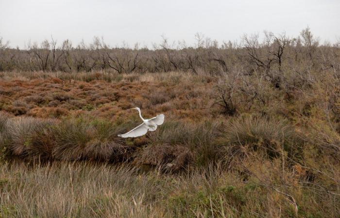
[[[120,143],[118,128],[112,123],[88,117],[66,118],[53,128],[56,159],[108,161]]]

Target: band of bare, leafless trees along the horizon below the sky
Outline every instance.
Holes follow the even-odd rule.
[[[84,42],[74,47],[69,40],[57,46],[57,42],[45,40],[40,45],[28,43],[25,50],[13,49],[0,41],[0,71],[63,71],[90,72],[105,70],[118,73],[187,71],[212,75],[228,72],[235,65],[247,73],[261,70],[265,73],[281,72],[284,68],[300,66],[325,70],[339,70],[339,43],[320,45],[309,28],[295,38],[286,34],[264,32],[259,35],[244,35],[241,43],[223,43],[195,35],[195,47],[185,42],[162,43],[153,49],[134,48],[126,45],[109,47],[103,39],[94,37],[93,42]],[[262,41],[262,42],[261,42]],[[299,69],[295,69],[299,70]],[[271,79],[273,75],[268,74]]]

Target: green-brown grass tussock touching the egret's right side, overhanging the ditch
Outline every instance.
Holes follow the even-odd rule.
[[[217,158],[215,135],[219,123],[187,124],[168,121],[148,134],[147,144],[137,160],[144,164],[167,165],[178,170],[190,161],[206,165]]]

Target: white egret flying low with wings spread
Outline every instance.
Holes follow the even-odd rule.
[[[119,137],[122,138],[129,138],[129,137],[138,137],[138,136],[142,136],[145,135],[148,130],[149,131],[155,131],[157,129],[157,125],[162,125],[164,122],[164,114],[158,114],[157,116],[151,118],[151,119],[144,119],[140,113],[140,109],[139,108],[132,108],[135,110],[138,110],[139,112],[139,117],[140,119],[142,119],[143,123],[141,125],[138,125],[136,128],[134,128],[133,130],[130,130],[129,132],[125,133],[125,134],[119,134]]]

